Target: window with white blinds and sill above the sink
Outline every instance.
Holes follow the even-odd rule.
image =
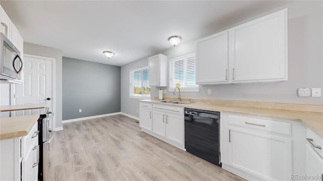
[[[199,92],[195,84],[195,53],[185,54],[170,59],[170,88],[178,86],[182,92]]]

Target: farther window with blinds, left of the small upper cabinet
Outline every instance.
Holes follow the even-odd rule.
[[[130,97],[150,97],[148,66],[130,71]]]

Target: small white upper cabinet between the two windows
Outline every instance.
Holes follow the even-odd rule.
[[[148,58],[149,86],[167,86],[167,56],[158,54]]]

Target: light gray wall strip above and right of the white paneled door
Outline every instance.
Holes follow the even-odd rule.
[[[62,127],[62,50],[24,42],[24,53],[56,59],[56,128]]]

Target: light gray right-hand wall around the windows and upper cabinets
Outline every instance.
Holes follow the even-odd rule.
[[[323,105],[322,98],[301,98],[297,97],[296,94],[298,87],[323,87],[322,2],[294,1],[246,21],[284,8],[288,8],[288,81],[200,85],[199,93],[182,93],[182,97]],[[221,30],[214,30],[214,33],[243,22],[229,27],[223,27]],[[195,52],[195,42],[196,40],[180,43],[175,48],[170,48],[160,53],[167,55],[168,58],[172,58]],[[121,67],[121,111],[123,113],[139,117],[139,112],[137,112],[137,109],[139,108],[138,100],[129,98],[129,70],[147,64],[148,57],[145,57]],[[152,98],[158,96],[159,88],[160,87],[151,88]],[[161,88],[166,89],[166,87]],[[207,89],[209,88],[212,89],[212,95],[207,95]],[[174,97],[174,95],[173,93],[167,93],[164,97]]]

